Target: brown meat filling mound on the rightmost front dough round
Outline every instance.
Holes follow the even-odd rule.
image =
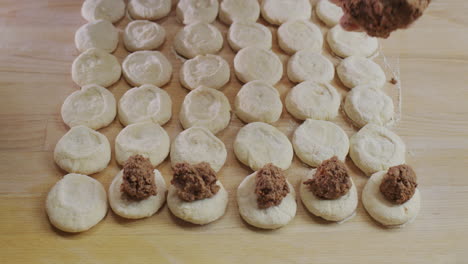
[[[399,165],[388,169],[380,184],[380,192],[395,204],[403,204],[413,197],[418,184],[416,174],[408,165]]]

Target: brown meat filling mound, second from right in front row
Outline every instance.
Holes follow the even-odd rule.
[[[325,160],[317,167],[312,179],[304,182],[317,197],[327,200],[338,199],[348,193],[351,179],[343,162],[336,156]]]

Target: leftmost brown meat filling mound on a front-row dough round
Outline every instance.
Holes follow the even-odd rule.
[[[143,200],[157,194],[153,165],[149,159],[134,155],[123,166],[123,182],[120,191],[134,200]]]

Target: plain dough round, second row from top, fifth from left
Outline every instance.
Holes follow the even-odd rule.
[[[323,36],[309,20],[290,20],[278,28],[278,44],[290,55],[304,49],[321,52]]]

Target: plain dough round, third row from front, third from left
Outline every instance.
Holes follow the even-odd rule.
[[[200,86],[185,96],[179,119],[184,129],[200,126],[216,134],[229,125],[231,105],[222,92]]]

